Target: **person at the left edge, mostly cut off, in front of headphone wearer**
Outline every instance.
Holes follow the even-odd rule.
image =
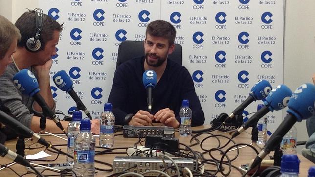
[[[11,56],[16,50],[21,34],[18,28],[1,15],[0,24],[0,75],[2,75],[6,67],[12,62]],[[12,115],[10,109],[2,103],[1,99],[0,110]],[[12,132],[13,131],[11,129],[8,129],[0,123],[0,143],[3,144],[7,138],[15,138],[15,133]],[[10,136],[11,134],[11,137],[7,137],[7,135]]]

